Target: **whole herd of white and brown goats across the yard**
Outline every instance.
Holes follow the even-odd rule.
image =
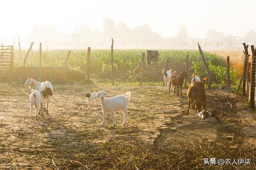
[[[137,67],[136,67],[137,68]],[[136,69],[135,68],[135,69]],[[134,69],[134,72],[136,71]],[[182,85],[184,83],[184,78],[188,76],[185,71],[180,73],[178,76],[176,71],[172,72],[171,70],[162,69],[162,76],[164,76],[164,90],[168,90],[168,94],[170,94],[170,89],[174,86],[174,94],[175,89],[177,87],[177,96],[179,96],[179,87],[180,87],[180,96],[182,96]],[[196,112],[198,111],[198,116],[202,119],[205,119],[208,122],[219,122],[220,118],[218,117],[218,113],[216,110],[212,110],[211,113],[206,111],[206,95],[204,84],[206,82],[206,78],[203,78],[203,82],[200,81],[199,76],[196,73],[192,75],[191,85],[187,90],[188,96],[188,110],[186,114],[189,113],[190,105],[192,109]],[[38,113],[43,115],[43,111],[47,111],[48,113],[48,105],[50,101],[50,96],[53,94],[52,84],[48,81],[46,82],[38,82],[32,78],[28,78],[28,80],[24,84],[25,87],[31,86],[34,88],[30,94],[30,112],[32,119],[33,115],[33,106],[36,106],[36,115],[35,119],[38,119]],[[98,106],[97,98],[100,97],[100,105],[103,112],[103,119],[100,126],[103,126],[105,123],[106,113],[110,112],[113,119],[113,126],[116,125],[114,112],[122,110],[124,114],[123,125],[126,125],[127,117],[128,117],[128,102],[130,100],[131,93],[127,92],[126,95],[118,95],[112,98],[107,98],[108,96],[104,90],[96,93],[95,91],[90,94],[86,93],[85,97],[87,98],[88,109],[90,109],[91,103],[92,106]],[[44,100],[47,101],[47,105],[45,106]],[[201,111],[201,107],[204,108]]]

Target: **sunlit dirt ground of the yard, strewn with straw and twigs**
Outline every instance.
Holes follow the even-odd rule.
[[[187,109],[186,90],[183,91],[183,97],[176,97],[173,94],[168,96],[160,86],[53,85],[54,95],[50,101],[49,114],[45,112],[35,120],[34,117],[30,119],[30,90],[22,85],[0,85],[1,169],[222,168],[218,165],[203,165],[203,158],[210,158],[208,156],[249,158],[252,159],[249,165],[228,165],[226,169],[256,169],[255,112],[244,109],[241,102],[237,103],[241,110],[236,113],[236,117],[230,116],[221,123],[213,124],[199,119],[192,109],[190,115],[172,117],[170,113],[174,107],[183,113]],[[112,127],[109,113],[105,126],[99,127],[102,122],[100,100],[97,107],[87,109],[84,94],[103,89],[109,96],[128,91],[132,93],[126,126],[122,125],[124,117],[119,111],[115,113],[116,127]],[[214,93],[223,91],[207,92],[209,96]],[[180,105],[173,105],[179,102]],[[157,128],[170,118],[172,122],[167,125],[169,129],[158,133]],[[182,120],[182,123],[176,124],[176,120]],[[176,127],[177,131],[170,131],[171,127]],[[157,137],[154,137],[155,134]],[[234,134],[231,140],[226,138],[229,134]],[[190,159],[192,144],[199,146],[201,154]],[[209,147],[216,153],[223,153],[221,149],[225,147],[231,148],[230,156],[234,157],[212,152],[204,154]],[[111,152],[107,152],[109,150]],[[137,154],[136,151],[141,152]],[[161,157],[158,154],[160,152],[167,156]],[[172,154],[177,160],[172,160]]]

